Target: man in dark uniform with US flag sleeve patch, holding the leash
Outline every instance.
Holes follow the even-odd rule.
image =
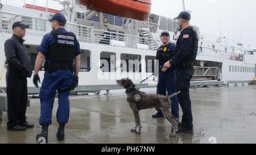
[[[193,27],[189,26],[189,20],[191,19],[189,12],[180,12],[175,19],[178,19],[178,24],[182,31],[177,39],[177,53],[170,61],[164,64],[164,68],[176,68],[176,89],[181,91],[177,97],[183,111],[182,121],[179,123],[178,130],[179,132],[193,133],[189,86],[193,76],[193,62],[196,60],[199,39]]]

